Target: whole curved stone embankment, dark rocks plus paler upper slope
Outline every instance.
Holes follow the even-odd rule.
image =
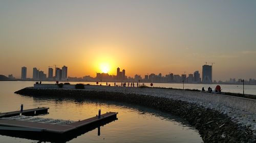
[[[204,142],[255,142],[255,100],[169,89],[103,87],[84,90],[52,87],[25,88],[15,92],[29,96],[96,98],[157,108],[187,120]],[[229,101],[228,101],[229,100]],[[230,103],[231,102],[231,103]],[[239,105],[246,103],[247,106]]]

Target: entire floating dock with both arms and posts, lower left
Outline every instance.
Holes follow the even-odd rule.
[[[118,120],[118,112],[106,112],[82,121],[34,117],[48,113],[47,107],[0,113],[0,134],[49,142],[67,142],[81,134]]]

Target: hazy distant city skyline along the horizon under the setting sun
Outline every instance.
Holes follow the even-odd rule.
[[[102,72],[96,72],[96,77],[91,77],[90,75],[85,75],[83,77],[70,77],[68,76],[68,67],[63,66],[61,69],[55,66],[55,74],[53,76],[53,68],[52,66],[48,66],[48,77],[44,71],[39,71],[37,68],[33,68],[33,77],[27,78],[27,67],[22,67],[22,77],[21,80],[42,80],[42,81],[107,81],[107,82],[158,82],[158,83],[236,83],[240,84],[242,82],[242,78],[229,78],[229,80],[212,80],[212,64],[211,65],[202,66],[202,78],[200,76],[200,72],[197,70],[193,73],[185,74],[185,72],[181,75],[175,73],[169,73],[162,76],[162,73],[158,75],[155,73],[147,74],[147,75],[134,75],[134,76],[126,76],[125,69],[120,72],[120,68],[117,67],[116,75],[109,74],[108,68],[103,67],[101,69]],[[15,77],[8,75],[10,79]],[[143,78],[144,77],[144,78]],[[17,78],[18,80],[18,78]],[[254,78],[245,79],[247,84],[256,84],[256,80]]]

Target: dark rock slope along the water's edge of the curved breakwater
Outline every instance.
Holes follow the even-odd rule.
[[[104,99],[140,104],[182,117],[199,131],[204,142],[255,142],[256,140],[251,129],[232,122],[232,119],[227,114],[179,99],[95,89],[64,90],[25,88],[15,93],[28,96]]]

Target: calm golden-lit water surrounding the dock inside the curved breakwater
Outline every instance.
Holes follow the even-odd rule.
[[[144,106],[103,100],[82,100],[54,97],[33,98],[14,94],[33,86],[32,81],[0,81],[0,111],[38,106],[50,107],[44,118],[82,120],[101,112],[116,111],[118,120],[84,133],[68,142],[203,142],[198,131],[186,121],[169,113]],[[37,142],[25,138],[0,135],[0,142]]]

